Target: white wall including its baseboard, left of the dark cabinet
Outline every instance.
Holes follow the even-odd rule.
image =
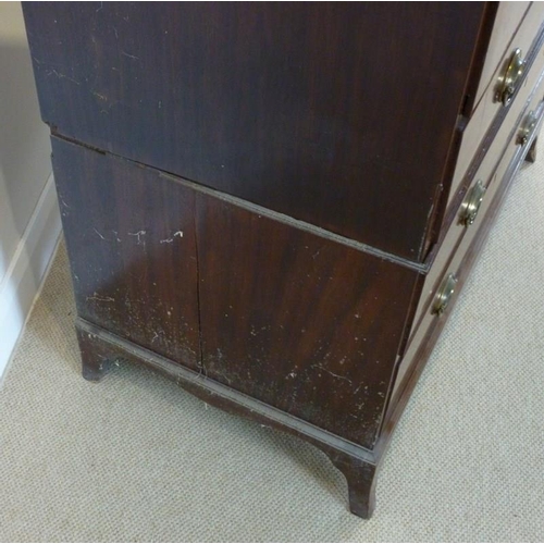
[[[54,249],[60,220],[20,2],[0,2],[0,376]]]

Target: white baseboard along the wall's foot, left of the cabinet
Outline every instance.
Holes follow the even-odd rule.
[[[0,378],[41,288],[61,233],[52,174],[0,283]]]

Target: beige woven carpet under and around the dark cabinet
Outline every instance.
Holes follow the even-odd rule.
[[[544,168],[518,175],[370,521],[313,447],[145,370],[79,375],[61,246],[0,392],[2,541],[542,541]]]

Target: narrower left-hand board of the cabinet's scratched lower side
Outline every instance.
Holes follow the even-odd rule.
[[[128,161],[52,145],[78,314],[199,369],[193,191]]]

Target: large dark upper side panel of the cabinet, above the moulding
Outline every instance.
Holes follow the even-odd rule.
[[[60,134],[422,258],[482,3],[24,10]]]

